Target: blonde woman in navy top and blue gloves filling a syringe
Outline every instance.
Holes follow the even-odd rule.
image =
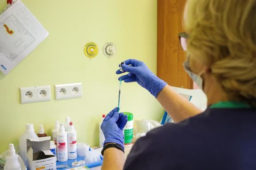
[[[256,169],[256,1],[188,0],[184,21],[184,69],[207,95],[206,111],[180,97],[145,63],[125,61],[128,74],[119,79],[147,89],[175,123],[137,140],[125,161],[127,117],[113,109],[101,126],[102,170]]]

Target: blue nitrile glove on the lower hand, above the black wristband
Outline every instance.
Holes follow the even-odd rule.
[[[118,113],[118,107],[114,108],[103,120],[100,128],[105,136],[104,146],[106,143],[113,142],[120,144],[124,148],[123,128],[128,121],[127,115]]]

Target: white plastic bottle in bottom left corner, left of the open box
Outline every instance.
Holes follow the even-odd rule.
[[[15,149],[13,144],[9,144],[8,155],[5,156],[6,163],[4,170],[21,170],[21,164],[18,161],[18,155],[15,154]]]

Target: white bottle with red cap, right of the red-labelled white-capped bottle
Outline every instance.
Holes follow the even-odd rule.
[[[76,130],[73,126],[73,122],[69,122],[69,131],[68,131],[68,152],[69,159],[77,158],[77,143],[76,143]]]

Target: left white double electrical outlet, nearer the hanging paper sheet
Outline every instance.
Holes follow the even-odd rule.
[[[50,86],[21,87],[19,89],[21,104],[51,100]]]

